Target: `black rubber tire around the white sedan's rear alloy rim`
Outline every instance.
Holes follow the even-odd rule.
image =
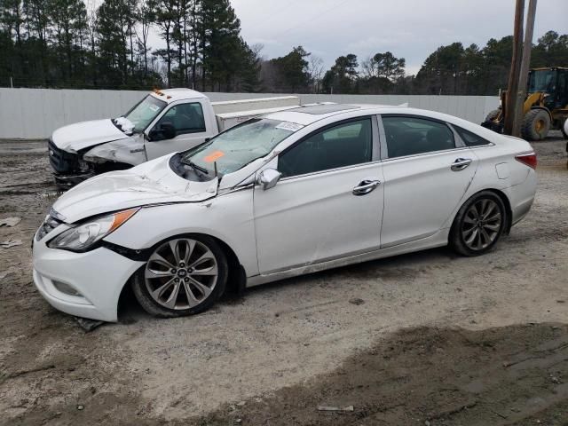
[[[495,209],[498,209],[501,220],[499,222],[498,229],[491,231],[492,237],[494,233],[493,240],[489,242],[486,246],[481,245],[479,246],[479,248],[475,248],[473,247],[475,246],[475,244],[473,244],[473,242],[468,243],[464,235],[467,236],[471,235],[469,234],[470,230],[474,229],[475,232],[475,228],[479,226],[479,225],[472,225],[470,223],[471,221],[470,210],[477,209],[478,206],[483,205],[484,201],[487,201],[487,203],[492,203],[491,205],[494,205]],[[493,213],[491,211],[489,213],[491,213],[491,215],[488,215],[487,218],[491,219]],[[487,225],[481,225],[481,226],[496,227],[495,224],[496,222],[490,222],[488,220]],[[452,225],[452,229],[450,231],[449,245],[451,248],[454,249],[454,251],[456,251],[462,256],[484,255],[485,253],[491,251],[495,247],[495,244],[497,244],[497,241],[499,241],[499,239],[501,238],[501,235],[503,231],[506,229],[508,224],[509,224],[508,212],[507,209],[505,208],[503,201],[501,200],[501,197],[499,197],[496,193],[493,193],[491,191],[482,191],[480,193],[476,193],[475,195],[470,197],[468,201],[465,201],[463,203],[457,215],[455,216],[454,224]],[[477,231],[477,233],[481,232]],[[487,232],[485,231],[485,233]],[[481,237],[483,237],[483,235],[481,235],[480,238]]]

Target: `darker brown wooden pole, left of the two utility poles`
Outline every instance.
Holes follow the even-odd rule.
[[[505,107],[505,122],[503,133],[513,134],[513,121],[515,107],[517,106],[518,76],[521,68],[521,49],[523,47],[523,18],[525,15],[525,0],[517,0],[515,8],[515,27],[513,29],[513,58],[509,71],[509,85],[507,87],[507,102]]]

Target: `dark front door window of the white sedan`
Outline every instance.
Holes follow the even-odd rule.
[[[371,119],[339,124],[319,131],[292,147],[278,160],[283,176],[297,176],[371,161]]]

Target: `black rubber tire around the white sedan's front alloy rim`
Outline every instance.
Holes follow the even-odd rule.
[[[189,298],[189,296],[186,296],[185,284],[183,282],[184,278],[178,278],[177,273],[179,273],[179,270],[177,270],[177,273],[171,274],[171,276],[174,276],[175,279],[182,280],[182,282],[180,284],[177,284],[177,286],[179,288],[178,289],[179,294],[178,294],[177,297],[180,297],[181,298],[180,300],[183,300],[183,297],[185,295],[185,300],[186,300],[188,306],[183,307],[183,305],[182,305],[182,307],[176,307],[175,309],[170,309],[169,307],[166,307],[166,306],[158,303],[154,299],[154,296],[152,296],[150,294],[150,289],[148,287],[151,286],[154,281],[150,281],[150,283],[146,282],[146,270],[149,268],[149,264],[151,262],[150,259],[152,259],[152,256],[154,256],[154,254],[158,250],[162,249],[162,247],[164,247],[165,245],[170,244],[170,242],[172,242],[172,241],[183,241],[183,240],[199,241],[199,244],[195,244],[194,247],[209,248],[210,252],[215,257],[215,261],[217,263],[216,264],[217,281],[215,282],[214,287],[211,286],[213,289],[212,289],[211,293],[209,294],[209,296],[205,296],[205,293],[203,293],[201,295],[201,296],[204,296],[203,300],[201,300],[201,302],[199,304],[195,304],[193,306],[190,306],[190,304],[191,304],[190,298]],[[174,243],[177,244],[176,242],[174,242]],[[193,248],[193,250],[194,249],[195,248]],[[196,256],[199,256],[199,253]],[[183,316],[186,316],[186,315],[193,315],[193,314],[196,314],[196,313],[204,312],[204,311],[208,310],[213,304],[215,304],[217,302],[217,300],[219,299],[219,297],[223,296],[223,293],[225,292],[225,286],[226,286],[226,281],[227,281],[228,272],[229,272],[229,266],[228,266],[228,263],[227,263],[227,258],[225,256],[225,252],[219,246],[217,241],[215,241],[214,239],[212,239],[208,236],[189,234],[189,235],[183,235],[183,236],[171,238],[168,241],[162,241],[161,243],[157,244],[154,247],[153,255],[150,256],[150,259],[148,259],[148,262],[146,262],[146,264],[143,267],[141,267],[138,270],[138,272],[136,272],[134,274],[132,284],[131,284],[132,290],[134,292],[134,296],[136,296],[138,303],[150,315],[154,315],[156,317],[163,317],[163,318],[174,318],[174,317],[183,317]],[[190,259],[193,259],[193,257],[190,257]],[[168,260],[172,261],[172,258],[169,258]],[[190,266],[191,262],[192,262],[192,260],[188,259],[187,265],[185,265],[186,270],[191,269],[191,268],[188,267],[188,266]],[[166,267],[166,269],[168,269],[168,268]],[[191,277],[191,274],[188,271],[186,271],[185,274],[186,275],[183,275],[184,277],[185,276]],[[180,277],[181,277],[181,275],[180,275]],[[165,280],[169,280],[169,277],[168,278],[164,277],[162,279],[153,278],[151,280],[163,280],[163,281],[165,281]],[[156,287],[158,287],[160,285],[161,284],[159,283]],[[188,285],[192,285],[192,284],[189,283]],[[170,285],[170,287],[172,287],[172,285]],[[193,290],[194,289],[195,288],[193,288]],[[156,290],[156,288],[154,288],[154,291],[155,290]],[[173,292],[173,290],[172,290],[172,292]],[[166,293],[166,292],[164,291],[163,293]],[[174,301],[174,304],[176,304],[176,301]]]

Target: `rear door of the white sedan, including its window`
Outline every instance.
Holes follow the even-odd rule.
[[[384,213],[381,247],[420,240],[450,226],[477,158],[446,124],[420,115],[383,114]]]

